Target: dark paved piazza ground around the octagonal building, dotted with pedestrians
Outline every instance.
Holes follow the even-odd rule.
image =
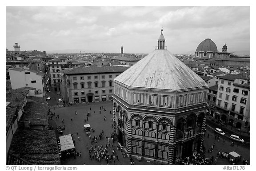
[[[102,110],[102,106],[106,109],[106,111]],[[101,107],[101,114],[100,114],[100,107]],[[90,110],[91,108],[91,110]],[[75,147],[77,152],[81,152],[82,156],[76,156],[76,159],[73,157],[70,157],[68,159],[65,159],[62,161],[62,164],[64,165],[83,165],[84,163],[86,165],[107,165],[107,162],[105,160],[101,160],[101,162],[97,161],[96,159],[89,159],[89,153],[87,146],[91,146],[91,140],[84,132],[84,124],[90,124],[91,127],[95,130],[95,132],[91,132],[91,136],[98,136],[100,135],[100,132],[104,130],[104,138],[102,140],[97,141],[97,145],[102,144],[103,147],[105,147],[105,144],[108,143],[106,140],[106,136],[109,136],[111,132],[113,132],[113,128],[111,126],[112,124],[112,101],[106,101],[106,102],[98,102],[98,103],[90,103],[87,104],[79,104],[79,105],[72,105],[69,107],[55,107],[53,109],[51,107],[52,112],[55,112],[55,117],[57,117],[57,114],[59,114],[59,119],[56,119],[53,117],[53,120],[50,120],[50,126],[53,126],[56,128],[56,126],[63,125],[61,122],[61,119],[64,119],[64,125],[65,130],[63,130],[63,135],[68,134],[71,132],[71,134],[74,134],[74,140],[76,141]],[[75,114],[75,111],[77,112],[77,115]],[[95,111],[95,113],[94,113]],[[111,111],[111,114],[110,114]],[[88,117],[88,121],[84,121],[87,117],[87,113],[91,113],[91,117]],[[106,117],[106,120],[104,120],[104,116]],[[71,120],[72,117],[72,120]],[[241,146],[239,144],[237,146],[237,143],[235,146],[231,146],[231,141],[227,138],[225,139],[225,143],[223,142],[223,138],[220,137],[220,142],[217,142],[217,140],[214,139],[214,132],[211,128],[207,127],[208,131],[205,135],[204,140],[204,146],[206,148],[206,157],[212,157],[216,158],[217,152],[232,152],[235,151],[242,155],[242,159],[246,158],[248,162],[250,163],[250,149],[249,147]],[[78,132],[78,135],[76,134]],[[208,133],[210,134],[209,138],[207,138]],[[57,133],[58,134],[58,133]],[[58,134],[57,136],[61,136]],[[78,140],[78,136],[80,136],[80,140]],[[211,148],[212,144],[215,143],[215,148],[212,153],[208,153],[208,149]],[[110,140],[110,144],[112,144],[112,140]],[[96,143],[93,143],[93,146],[95,146]],[[116,160],[116,165],[130,165],[130,159],[129,158],[122,158],[122,153],[117,150],[118,144],[115,142],[114,149],[116,149],[116,152],[119,157],[119,161]],[[112,154],[112,147],[108,148],[108,152],[111,155]],[[143,160],[139,162],[136,158],[134,159],[135,165],[152,165],[152,164],[160,164],[160,163],[154,163],[150,161],[149,163],[147,160]],[[109,162],[110,165],[113,165],[113,161]],[[217,165],[228,165],[227,159],[218,159]]]

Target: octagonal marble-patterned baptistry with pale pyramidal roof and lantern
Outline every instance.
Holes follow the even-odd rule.
[[[202,148],[208,85],[164,44],[114,79],[114,134],[129,155],[174,164]]]

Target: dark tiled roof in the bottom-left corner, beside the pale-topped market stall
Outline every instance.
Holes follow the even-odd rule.
[[[18,129],[12,138],[9,153],[33,165],[60,165],[54,131]],[[9,159],[7,165],[13,165]]]

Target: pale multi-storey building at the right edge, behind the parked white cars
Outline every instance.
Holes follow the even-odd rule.
[[[216,118],[233,127],[248,130],[250,125],[250,78],[227,74],[219,77]]]

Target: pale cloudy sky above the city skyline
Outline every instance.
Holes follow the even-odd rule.
[[[6,48],[58,52],[150,53],[163,27],[168,51],[250,50],[249,6],[7,6]]]

